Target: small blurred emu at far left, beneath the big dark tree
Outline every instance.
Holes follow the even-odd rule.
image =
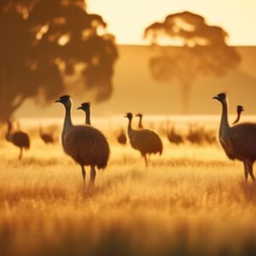
[[[23,148],[25,148],[26,150],[30,148],[30,139],[26,134],[26,132],[15,131],[12,133],[11,132],[13,128],[12,123],[8,120],[7,124],[8,124],[8,130],[5,136],[6,140],[10,143],[13,143],[18,148],[20,148],[19,160],[21,160]]]

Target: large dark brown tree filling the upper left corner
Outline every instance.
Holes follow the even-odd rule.
[[[51,102],[65,77],[80,75],[97,102],[113,90],[114,37],[84,0],[2,0],[0,3],[0,122],[27,98]]]

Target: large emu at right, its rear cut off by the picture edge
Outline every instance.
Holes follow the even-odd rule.
[[[219,142],[230,160],[240,160],[244,165],[244,175],[253,175],[253,163],[256,160],[256,124],[241,123],[230,126],[228,120],[228,99],[225,93],[219,93],[213,99],[222,104],[222,116],[219,126]]]

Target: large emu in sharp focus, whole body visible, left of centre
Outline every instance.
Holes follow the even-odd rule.
[[[59,100],[65,107],[65,118],[61,132],[61,143],[64,152],[81,166],[85,184],[85,168],[90,166],[90,184],[95,183],[96,170],[108,165],[109,146],[101,131],[90,125],[73,125],[71,119],[72,100],[70,96],[61,96]]]

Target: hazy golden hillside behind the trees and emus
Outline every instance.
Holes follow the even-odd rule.
[[[128,111],[140,111],[148,114],[181,114],[181,87],[176,80],[160,83],[154,80],[148,69],[148,61],[153,55],[150,46],[118,45],[119,59],[113,74],[113,95],[100,104],[93,104],[94,116],[117,115]],[[172,47],[173,52],[177,47]],[[255,72],[254,60],[256,48],[253,46],[236,47],[241,55],[239,67],[223,77],[201,77],[193,86],[190,96],[189,114],[218,114],[220,108],[212,101],[212,96],[226,91],[230,96],[230,113],[236,113],[236,105],[243,104],[247,114],[254,114]],[[79,84],[81,87],[81,84]],[[247,92],[251,93],[248,94]],[[90,100],[87,90],[73,91],[74,107]],[[144,100],[145,99],[145,100]],[[245,102],[246,101],[246,102]],[[160,102],[160,103],[159,103]],[[33,99],[27,100],[15,113],[16,117],[59,117],[61,108],[56,108],[54,101],[47,106],[38,106]],[[73,111],[74,115],[79,115]]]

